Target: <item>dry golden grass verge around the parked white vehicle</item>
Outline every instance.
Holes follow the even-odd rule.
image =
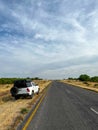
[[[40,86],[40,93],[50,84],[51,81],[35,80]],[[39,95],[32,99],[15,100],[10,95],[10,88],[13,85],[0,85],[0,130],[14,130],[15,126],[23,120],[25,114],[31,109]]]

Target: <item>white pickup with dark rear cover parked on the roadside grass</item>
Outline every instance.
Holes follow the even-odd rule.
[[[10,93],[15,99],[19,99],[21,96],[29,96],[32,98],[35,93],[39,94],[39,91],[39,86],[32,82],[32,80],[27,79],[16,80],[10,89]]]

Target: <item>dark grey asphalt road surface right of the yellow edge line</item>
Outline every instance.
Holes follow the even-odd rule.
[[[27,130],[98,130],[98,93],[53,81]]]

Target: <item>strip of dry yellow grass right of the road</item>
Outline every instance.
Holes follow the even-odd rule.
[[[98,92],[97,82],[87,82],[87,81],[82,82],[79,80],[62,80],[62,82]]]

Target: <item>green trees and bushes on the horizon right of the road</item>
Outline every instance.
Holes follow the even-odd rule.
[[[81,74],[78,78],[68,78],[71,80],[80,80],[80,81],[90,81],[90,82],[98,82],[98,76],[90,77],[87,74]]]

